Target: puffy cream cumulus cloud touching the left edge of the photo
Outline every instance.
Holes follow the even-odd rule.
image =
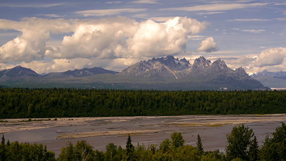
[[[22,32],[0,47],[0,62],[31,62],[43,59],[50,32],[69,32],[70,23],[63,19],[23,18],[22,21],[0,19],[0,29]]]

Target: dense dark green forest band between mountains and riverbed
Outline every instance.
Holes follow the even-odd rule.
[[[0,88],[0,118],[286,113],[286,91]]]

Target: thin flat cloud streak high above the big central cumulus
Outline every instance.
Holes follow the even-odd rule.
[[[112,16],[119,15],[121,13],[132,13],[132,12],[141,12],[146,11],[145,8],[120,8],[120,9],[105,9],[105,10],[85,10],[85,11],[77,11],[75,14],[79,14],[82,16]]]

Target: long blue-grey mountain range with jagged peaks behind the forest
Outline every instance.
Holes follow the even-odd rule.
[[[39,75],[16,66],[0,71],[0,84],[8,87],[63,87],[156,90],[245,90],[267,89],[243,68],[233,70],[221,59],[204,57],[190,64],[173,56],[153,58],[128,66],[121,72],[100,67]]]

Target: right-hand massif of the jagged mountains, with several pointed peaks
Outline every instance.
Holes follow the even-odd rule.
[[[198,67],[191,69],[188,75],[178,80],[179,82],[197,82],[198,85],[206,86],[207,89],[242,90],[264,87],[259,81],[252,79],[242,67],[233,70],[227,67],[221,59],[205,65],[207,61],[204,58],[198,59],[200,60],[195,60]]]

